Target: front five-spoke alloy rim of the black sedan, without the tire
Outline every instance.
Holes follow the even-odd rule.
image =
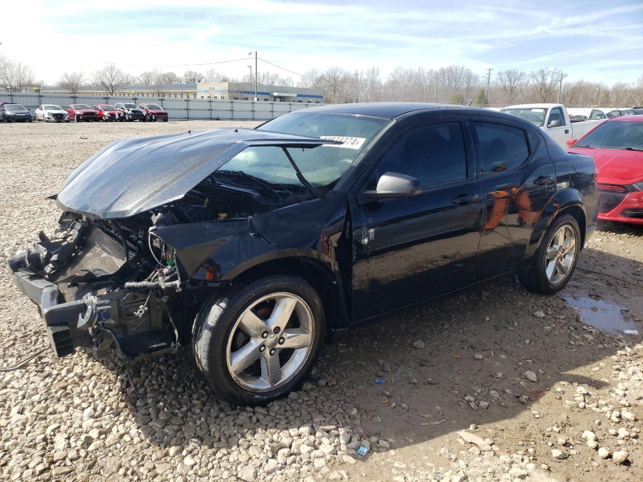
[[[311,355],[313,326],[311,308],[295,294],[276,292],[253,301],[228,337],[228,372],[251,391],[281,386]]]

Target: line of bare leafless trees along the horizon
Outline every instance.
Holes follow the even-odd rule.
[[[270,71],[258,73],[258,83],[282,87],[309,87],[322,89],[327,103],[412,101],[440,102],[476,107],[503,107],[514,103],[561,102],[568,107],[595,105],[628,107],[643,105],[643,74],[635,82],[604,82],[575,80],[568,82],[557,68],[542,67],[532,71],[507,69],[491,76],[488,87],[486,76],[480,76],[466,66],[452,65],[437,70],[395,67],[385,78],[378,67],[347,71],[329,67],[325,71],[311,69],[295,82],[291,76],[280,76]],[[231,82],[235,89],[245,89],[246,82],[254,82],[249,73],[234,78],[215,69],[204,72],[187,70],[183,75],[152,69],[132,75],[116,64],[86,75],[66,72],[58,82],[60,87],[76,94],[86,85],[96,85],[113,95],[125,85],[152,85],[158,96],[167,93],[172,84],[199,82]],[[0,89],[26,92],[41,87],[44,82],[35,78],[30,66],[14,62],[0,55]]]

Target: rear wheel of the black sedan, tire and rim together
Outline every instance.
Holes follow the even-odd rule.
[[[573,246],[570,247],[572,241]],[[574,216],[563,214],[549,226],[532,262],[518,274],[518,279],[530,291],[556,294],[572,278],[580,250],[581,230],[578,222]]]

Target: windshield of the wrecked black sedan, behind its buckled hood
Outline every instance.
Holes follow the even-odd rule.
[[[268,121],[257,129],[343,142],[341,145],[306,149],[288,148],[303,177],[312,186],[331,189],[388,123],[388,119],[344,114],[287,114]],[[305,190],[280,147],[248,147],[222,165],[217,172],[242,172],[273,188]],[[242,183],[241,180],[239,182]]]

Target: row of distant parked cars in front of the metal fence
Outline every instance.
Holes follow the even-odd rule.
[[[15,102],[0,103],[0,121],[32,122],[32,112],[24,105]],[[44,122],[71,121],[168,121],[168,114],[163,107],[156,103],[141,103],[136,105],[129,102],[97,104],[93,107],[84,103],[70,104],[60,107],[55,104],[41,104],[35,111],[35,120]]]

